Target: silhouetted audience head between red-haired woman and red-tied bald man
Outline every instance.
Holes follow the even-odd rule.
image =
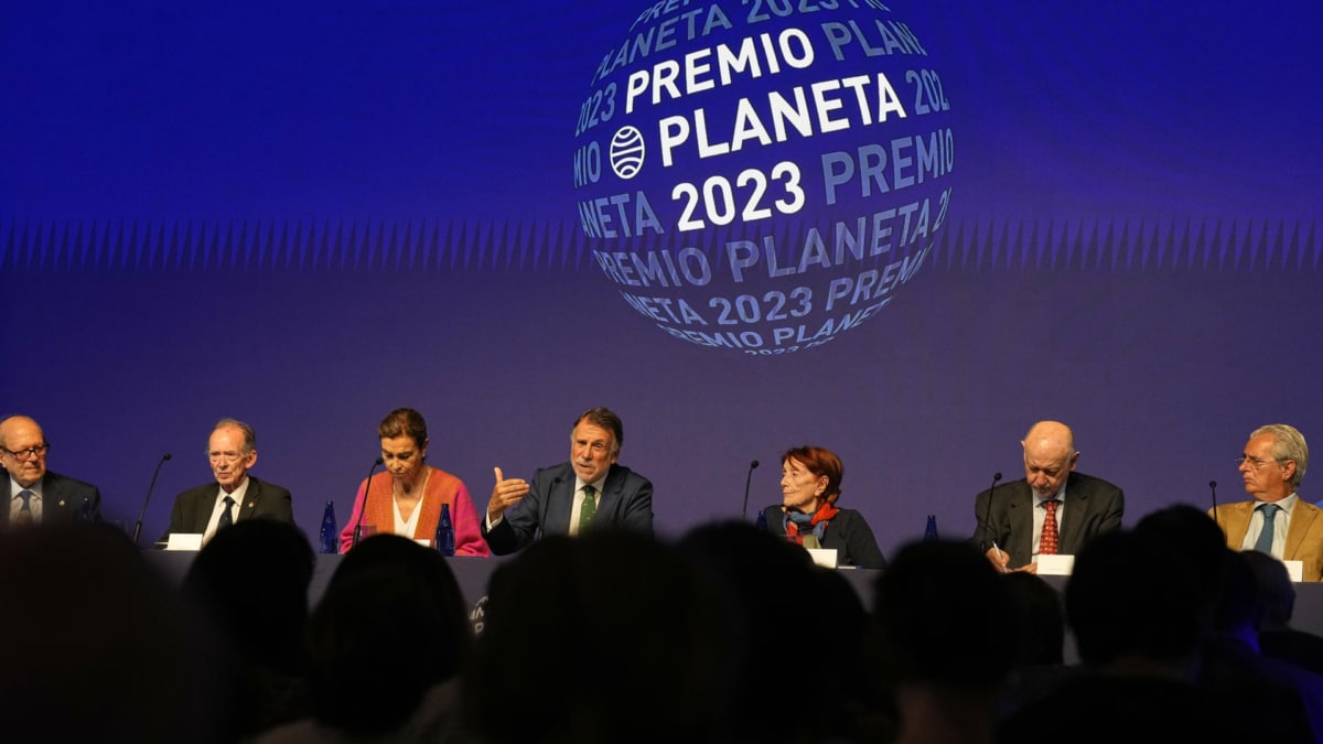
[[[876,586],[882,673],[896,687],[990,690],[1011,670],[1011,590],[964,543],[901,548]]]

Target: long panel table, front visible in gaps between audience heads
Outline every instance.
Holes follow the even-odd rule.
[[[184,575],[188,572],[189,564],[193,561],[196,553],[192,552],[167,552],[167,551],[144,551],[148,563],[155,565],[161,571],[167,579],[172,581],[181,581]],[[344,556],[339,555],[319,555],[318,565],[312,573],[312,584],[308,586],[308,601],[316,604],[321,594],[325,592],[327,584],[331,581],[331,575],[335,573],[336,567],[340,565],[340,560]],[[459,590],[464,594],[464,602],[472,608],[487,594],[487,580],[491,577],[492,572],[508,557],[451,557],[446,559],[450,564],[450,569],[455,573],[455,579],[459,582]],[[855,592],[864,601],[865,606],[872,606],[873,602],[873,581],[877,580],[880,572],[865,571],[855,568],[841,568],[837,569],[849,581]],[[1052,584],[1058,590],[1065,588],[1065,576],[1045,576],[1048,584]],[[1297,630],[1304,630],[1307,633],[1314,633],[1315,635],[1323,635],[1323,584],[1297,584],[1295,585],[1295,614],[1291,618],[1291,626]]]

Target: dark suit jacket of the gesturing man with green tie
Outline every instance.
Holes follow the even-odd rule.
[[[564,462],[533,474],[528,495],[505,510],[483,537],[493,553],[512,553],[542,535],[569,535],[574,510],[574,467]],[[594,528],[620,527],[652,536],[652,483],[623,465],[613,465],[602,483]]]

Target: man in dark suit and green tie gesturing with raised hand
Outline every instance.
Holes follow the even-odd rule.
[[[652,535],[652,483],[615,459],[624,442],[620,417],[585,410],[570,430],[570,461],[544,467],[529,483],[504,478],[487,502],[483,537],[496,555],[512,553],[541,535],[578,535],[587,528],[626,528]]]

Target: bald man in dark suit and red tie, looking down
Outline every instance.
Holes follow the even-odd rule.
[[[1037,571],[1039,553],[1076,555],[1094,536],[1121,527],[1126,496],[1117,486],[1076,473],[1080,453],[1065,424],[1040,421],[1020,442],[1024,479],[974,499],[970,543],[1002,571]]]

